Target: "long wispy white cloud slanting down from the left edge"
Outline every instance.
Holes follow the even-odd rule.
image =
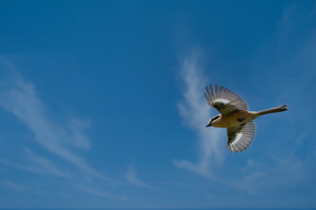
[[[91,168],[81,157],[75,155],[67,145],[89,149],[88,137],[82,134],[87,122],[73,119],[66,126],[54,123],[46,113],[46,107],[37,97],[32,83],[25,82],[12,63],[0,57],[0,62],[8,69],[8,77],[1,81],[0,106],[14,114],[35,135],[35,140],[49,152],[76,165],[80,170],[94,177],[113,181]]]

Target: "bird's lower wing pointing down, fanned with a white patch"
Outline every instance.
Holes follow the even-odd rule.
[[[226,147],[231,152],[243,152],[252,143],[255,133],[256,124],[253,120],[246,123],[246,125],[229,127],[227,128],[228,142]]]

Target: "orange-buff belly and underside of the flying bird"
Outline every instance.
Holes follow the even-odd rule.
[[[237,111],[228,115],[222,115],[222,119],[219,122],[213,122],[213,127],[228,128],[235,127],[250,122],[258,117],[257,112]]]

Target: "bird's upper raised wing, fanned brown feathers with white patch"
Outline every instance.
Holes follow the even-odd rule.
[[[210,107],[216,108],[221,114],[229,114],[235,110],[248,110],[248,104],[237,93],[223,86],[219,88],[217,84],[215,87],[205,86],[207,93],[204,93],[204,96]]]

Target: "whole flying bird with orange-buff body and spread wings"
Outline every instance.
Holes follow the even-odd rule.
[[[213,85],[205,86],[205,88],[207,93],[204,93],[204,96],[207,103],[221,113],[212,117],[206,127],[227,128],[226,148],[228,147],[231,152],[243,152],[250,146],[256,133],[256,124],[253,121],[255,118],[289,109],[284,108],[287,105],[282,105],[259,112],[250,112],[246,101],[232,90],[223,86],[220,88],[217,84],[215,88]]]

